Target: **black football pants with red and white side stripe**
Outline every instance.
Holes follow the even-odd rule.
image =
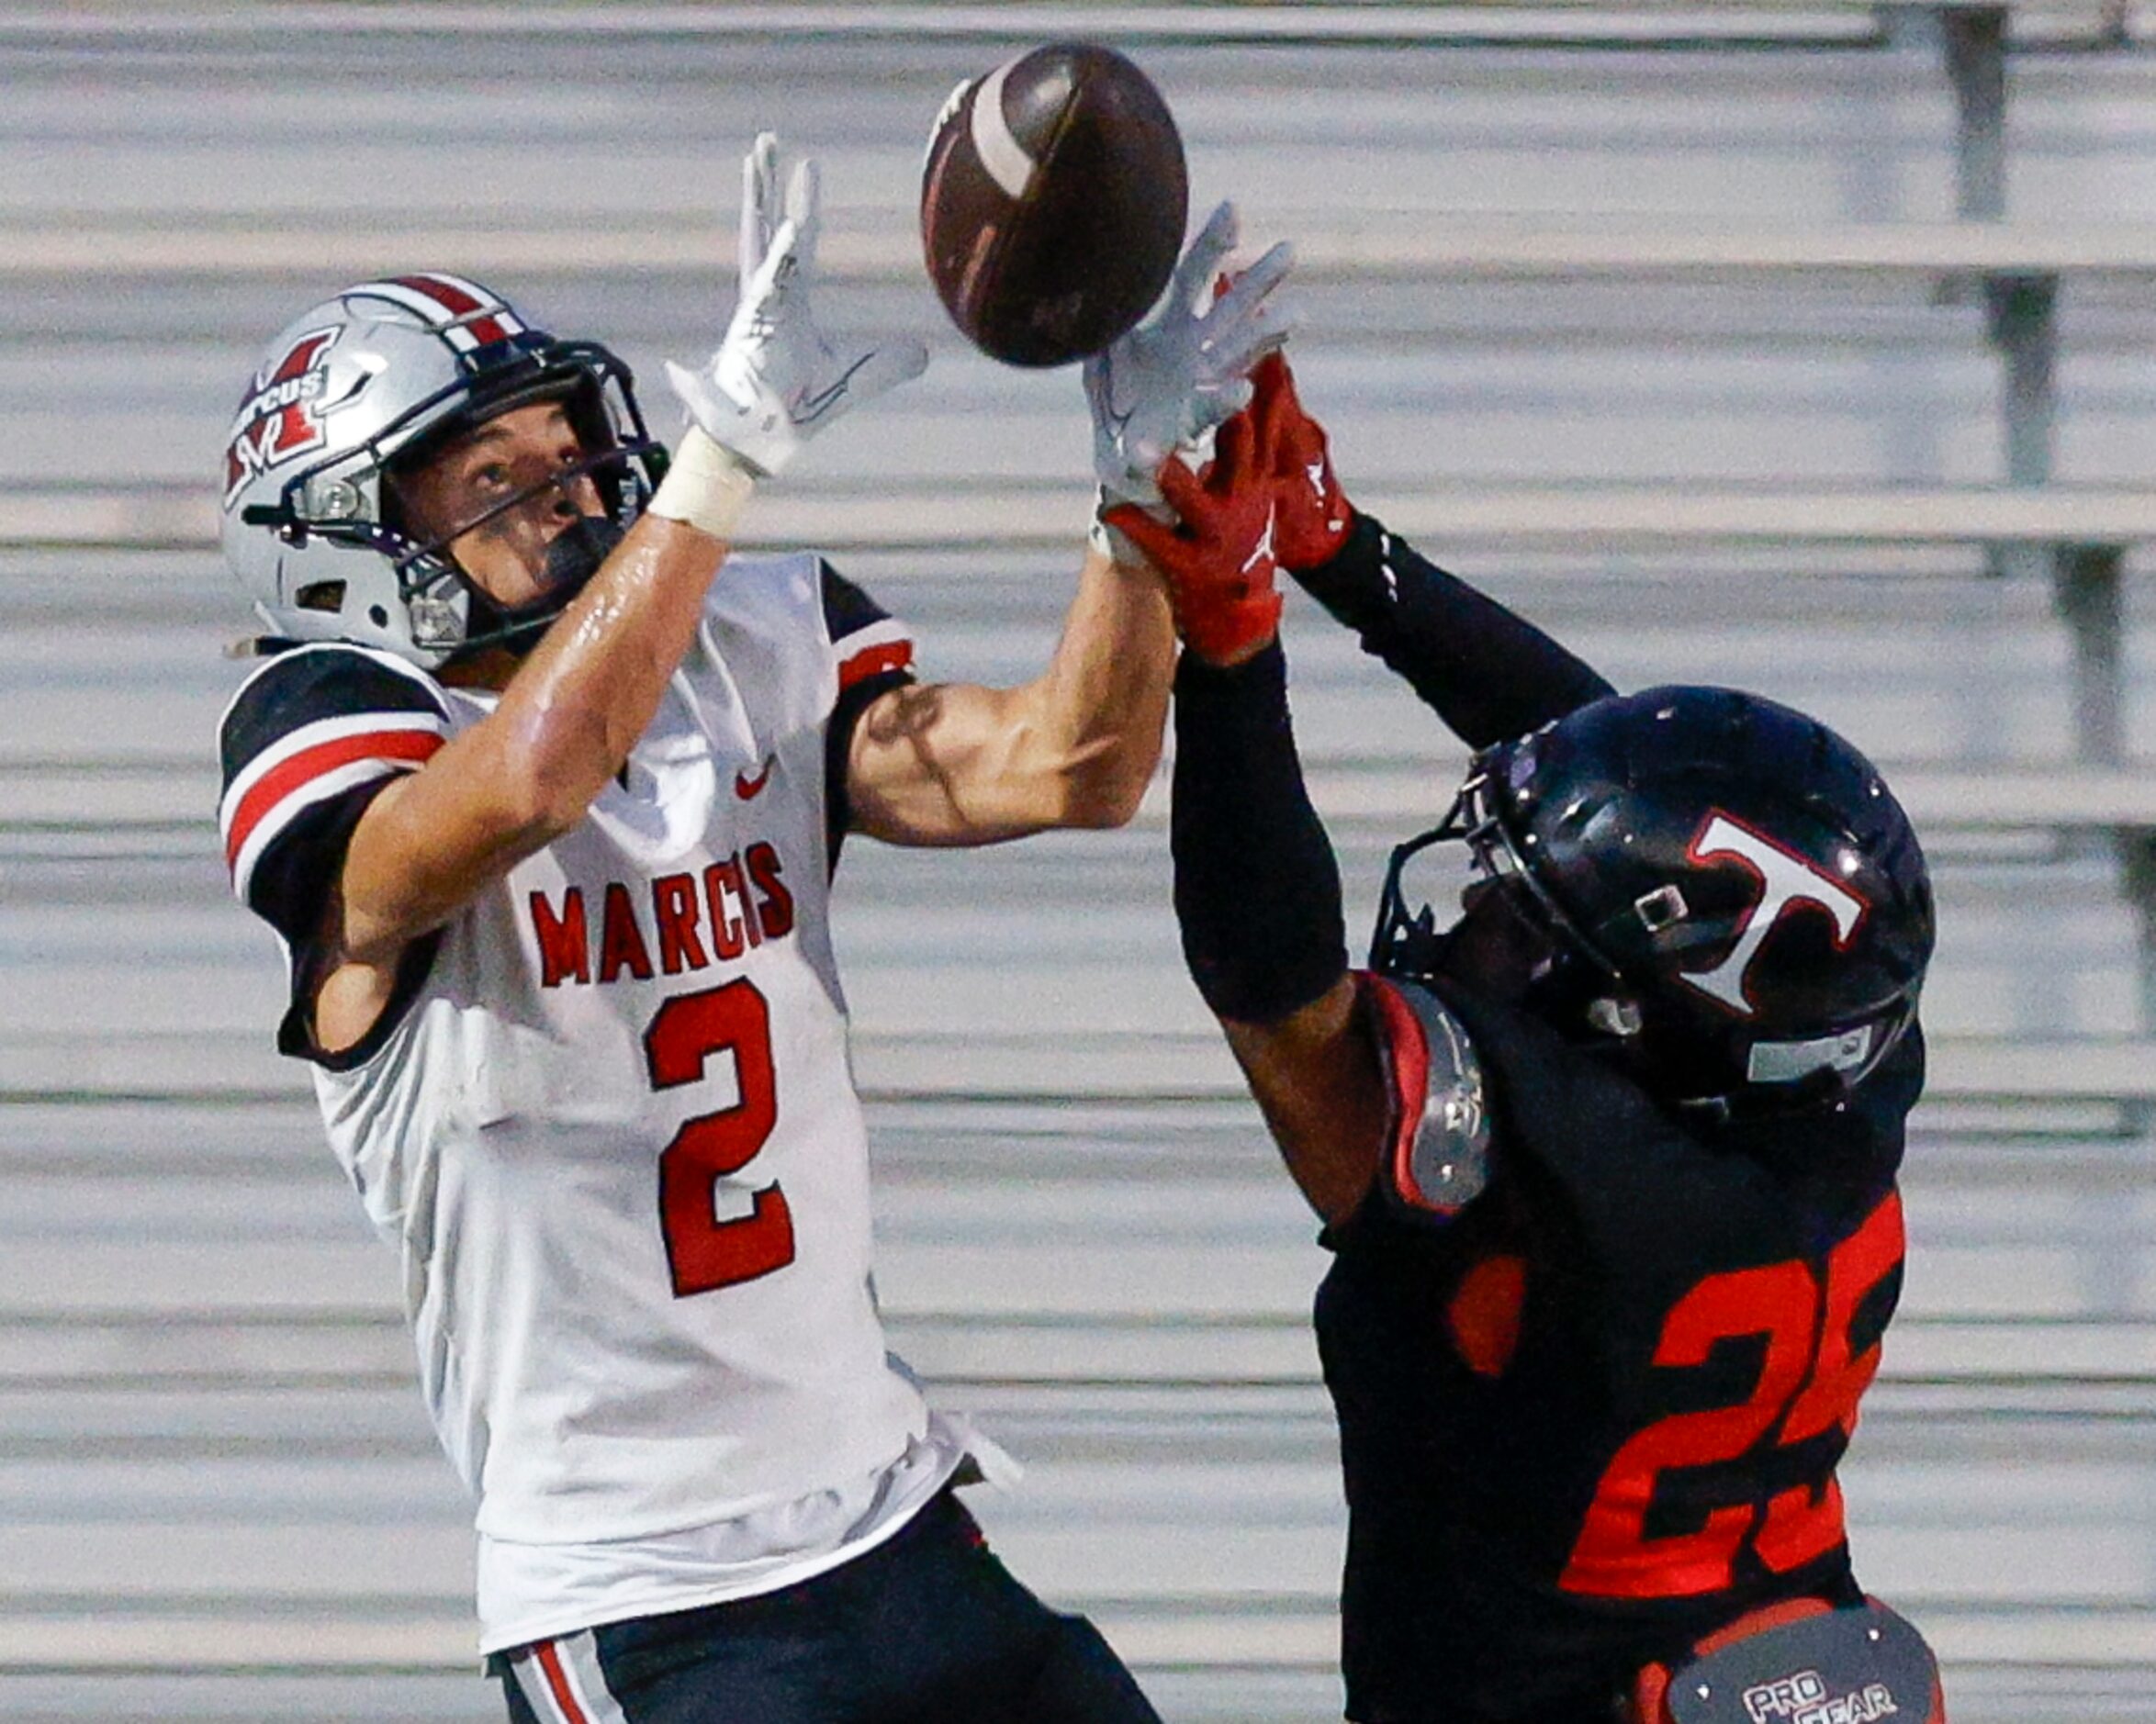
[[[886,1543],[755,1599],[489,1659],[513,1724],[1160,1724],[944,1491]]]

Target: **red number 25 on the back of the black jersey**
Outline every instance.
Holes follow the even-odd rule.
[[[1850,1353],[1850,1321],[1902,1261],[1902,1198],[1889,1194],[1826,1259],[1826,1299],[1802,1263],[1708,1276],[1671,1308],[1654,1349],[1658,1366],[1705,1364],[1718,1340],[1766,1336],[1759,1381],[1738,1407],[1656,1420],[1626,1442],[1602,1474],[1572,1560],[1567,1593],[1675,1599],[1718,1593],[1736,1580],[1746,1539],[1774,1573],[1787,1573],[1841,1541],[1841,1487],[1796,1485],[1757,1502],[1714,1508],[1695,1532],[1647,1537],[1656,1480],[1671,1468],[1736,1461],[1770,1433],[1798,1444],[1833,1424],[1856,1429],[1856,1399],[1880,1366],[1878,1343]],[[1794,1399],[1792,1399],[1794,1396]],[[1779,1427],[1779,1429],[1777,1429]]]

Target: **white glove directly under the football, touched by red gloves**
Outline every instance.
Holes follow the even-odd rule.
[[[1084,362],[1104,504],[1158,504],[1160,463],[1240,412],[1250,401],[1250,366],[1287,340],[1285,317],[1266,304],[1294,263],[1285,241],[1199,310],[1238,235],[1235,205],[1222,203],[1175,265],[1153,319]]]

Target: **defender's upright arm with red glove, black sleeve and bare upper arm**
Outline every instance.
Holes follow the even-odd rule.
[[[1242,414],[1203,478],[1162,465],[1175,526],[1138,509],[1112,522],[1166,573],[1188,649],[1169,823],[1184,959],[1289,1172],[1339,1222],[1376,1174],[1388,1095],[1289,724],[1270,463],[1266,427]]]

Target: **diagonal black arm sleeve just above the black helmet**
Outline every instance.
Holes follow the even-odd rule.
[[[1524,737],[1615,690],[1533,623],[1427,562],[1369,515],[1296,580],[1470,748]]]

